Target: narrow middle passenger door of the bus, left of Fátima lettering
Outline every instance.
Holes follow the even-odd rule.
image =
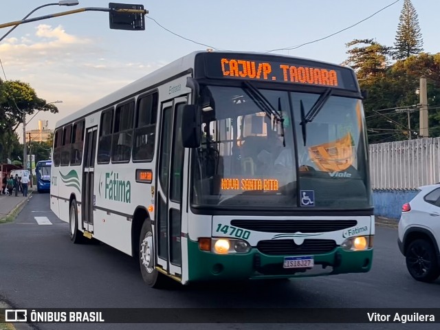
[[[83,162],[83,189],[81,195],[81,213],[83,218],[83,229],[87,232],[94,231],[94,172],[96,137],[98,126],[87,129],[85,134],[85,159]]]

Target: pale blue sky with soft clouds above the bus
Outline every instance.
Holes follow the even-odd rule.
[[[146,76],[155,69],[196,50],[261,52],[292,47],[323,38],[363,19],[395,0],[119,0],[144,5],[148,10],[144,31],[109,28],[107,12],[80,12],[19,25],[0,42],[0,77],[21,80],[59,113],[41,111],[27,129],[38,129],[38,120],[56,121],[111,92]],[[54,1],[56,2],[56,0]],[[79,0],[79,5],[50,5],[31,17],[78,8],[108,8],[109,1]],[[44,0],[0,0],[0,24],[19,21],[31,10],[51,3]],[[375,39],[392,46],[404,0],[374,17],[328,39],[284,54],[342,63],[346,43]],[[425,52],[440,52],[437,28],[439,0],[412,0],[417,10]],[[162,25],[160,27],[153,21]],[[184,40],[165,29],[192,39]],[[1,28],[0,36],[10,28]],[[28,118],[29,120],[30,118]],[[21,131],[19,131],[21,132]],[[19,134],[22,135],[22,134]]]

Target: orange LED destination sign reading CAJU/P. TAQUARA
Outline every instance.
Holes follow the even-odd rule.
[[[223,77],[341,87],[340,73],[336,69],[305,65],[221,58],[221,72]]]

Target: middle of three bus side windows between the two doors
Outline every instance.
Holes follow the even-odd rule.
[[[130,160],[134,108],[134,101],[116,107],[111,162],[129,162]]]

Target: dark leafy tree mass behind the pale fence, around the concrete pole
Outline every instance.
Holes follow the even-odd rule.
[[[360,81],[362,89],[369,90],[364,101],[369,142],[388,142],[408,139],[407,113],[375,111],[395,107],[411,107],[419,103],[420,77],[427,78],[430,136],[440,136],[440,53],[421,53],[397,61],[386,69],[384,76]],[[436,107],[438,106],[437,110]],[[417,110],[417,108],[414,108]],[[391,122],[389,122],[389,121]],[[412,131],[419,129],[419,112],[410,113]],[[412,138],[417,135],[412,135]]]

